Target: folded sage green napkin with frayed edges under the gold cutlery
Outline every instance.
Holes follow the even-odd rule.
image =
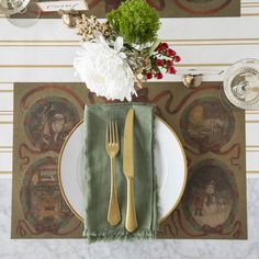
[[[125,229],[126,178],[123,174],[123,135],[127,111],[133,108],[135,207],[138,229]],[[110,198],[110,158],[105,151],[106,122],[116,120],[121,149],[116,157],[116,191],[121,223],[112,227],[106,221]],[[137,103],[98,104],[85,110],[85,232],[89,241],[155,238],[157,232],[157,182],[153,164],[154,109]]]

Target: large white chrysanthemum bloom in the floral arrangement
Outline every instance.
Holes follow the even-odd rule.
[[[125,61],[125,54],[121,53],[123,38],[117,37],[114,48],[111,48],[101,34],[95,37],[97,42],[85,43],[83,49],[75,58],[77,74],[97,95],[131,101],[136,92],[133,71]]]

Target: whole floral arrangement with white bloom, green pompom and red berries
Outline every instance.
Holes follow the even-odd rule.
[[[131,101],[135,83],[164,74],[176,74],[181,58],[158,40],[158,13],[145,0],[126,0],[101,22],[81,14],[76,21],[82,50],[74,66],[81,80],[98,95]]]

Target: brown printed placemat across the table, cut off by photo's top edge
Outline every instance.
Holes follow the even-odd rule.
[[[87,13],[104,18],[123,0],[88,0]],[[240,0],[147,0],[160,18],[240,16]]]

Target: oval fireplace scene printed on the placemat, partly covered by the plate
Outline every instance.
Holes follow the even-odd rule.
[[[36,233],[58,233],[74,217],[60,193],[56,158],[40,159],[29,168],[20,200],[24,217]]]

